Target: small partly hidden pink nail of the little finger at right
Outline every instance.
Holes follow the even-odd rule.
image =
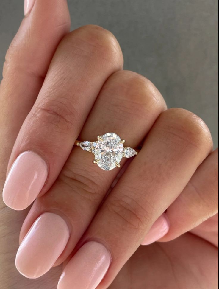
[[[159,240],[160,238],[162,238],[163,236],[165,236],[167,234],[167,232],[169,231],[169,228],[170,228],[169,220],[167,219],[165,214],[162,214],[157,219],[157,221],[155,221],[155,223],[151,227],[150,231],[148,232],[148,234],[144,238],[141,245],[149,245],[149,244]]]

